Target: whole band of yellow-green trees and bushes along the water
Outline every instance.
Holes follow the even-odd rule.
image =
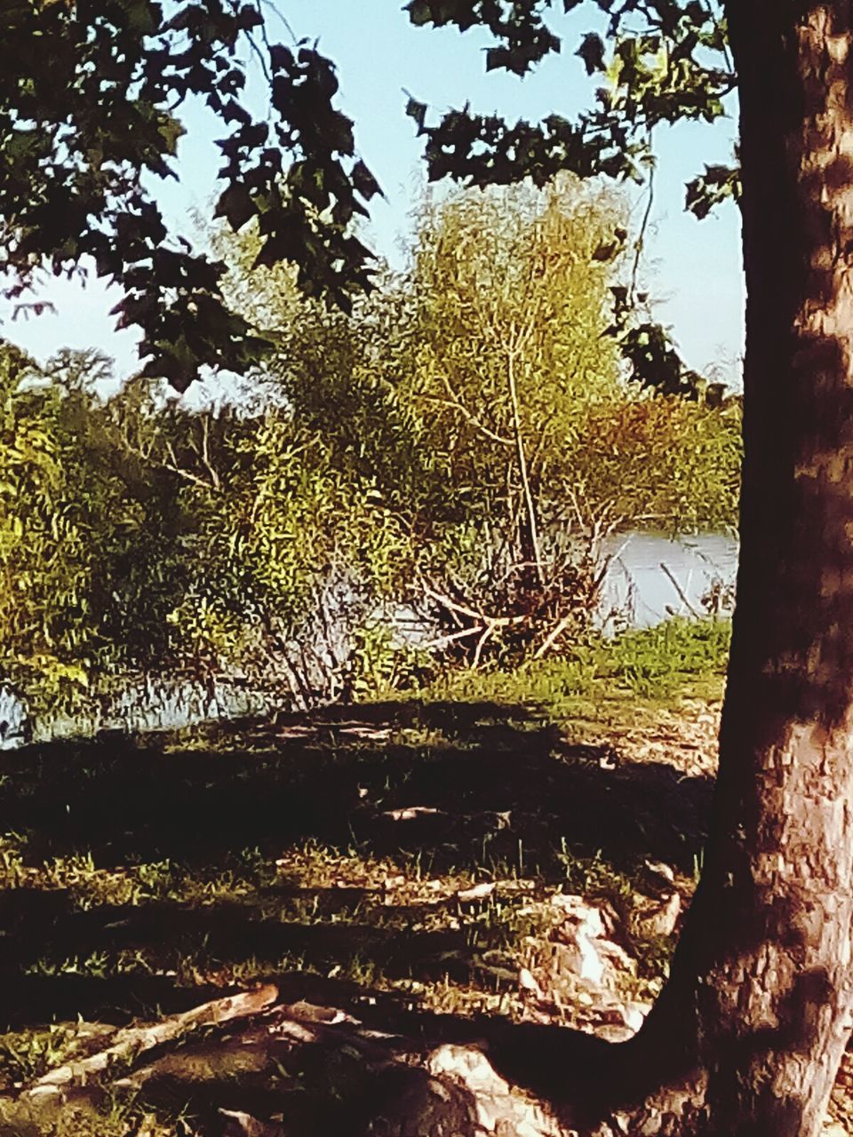
[[[205,409],[6,345],[3,675],[41,704],[140,672],[275,677],[309,703],[541,656],[588,625],[613,532],[732,523],[737,401],[621,374],[619,210],[572,182],[428,204],[351,318],[252,268],[251,236],[214,238],[275,350]],[[417,650],[404,608],[431,629]]]

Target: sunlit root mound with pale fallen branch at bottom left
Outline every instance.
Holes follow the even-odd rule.
[[[480,1046],[387,1035],[334,1009],[275,997],[262,987],[119,1030],[106,1048],[0,1101],[0,1132],[56,1132],[64,1111],[97,1110],[106,1094],[166,1111],[190,1103],[196,1131],[220,1137],[571,1132],[502,1078]]]

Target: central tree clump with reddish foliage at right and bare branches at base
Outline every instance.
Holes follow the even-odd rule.
[[[437,624],[448,661],[519,661],[587,633],[619,530],[734,522],[737,406],[620,374],[621,208],[570,177],[426,201],[408,267],[379,274],[351,318],[284,267],[254,268],[250,229],[210,234],[229,301],[276,345],[264,390],[372,501],[362,546],[398,534],[375,603],[396,595]]]

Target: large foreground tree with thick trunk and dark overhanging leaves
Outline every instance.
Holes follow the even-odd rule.
[[[563,7],[578,8],[580,2],[563,0]],[[525,1035],[514,1048],[507,1045],[503,1061],[539,1089],[573,1095],[587,1119],[618,1105],[640,1111],[644,1120],[636,1128],[644,1134],[811,1137],[819,1130],[853,1013],[853,667],[847,638],[853,616],[853,14],[846,0],[728,0],[736,78],[727,55],[727,27],[713,3],[596,2],[606,17],[607,42],[591,31],[580,56],[590,74],[601,72],[608,82],[597,108],[578,123],[553,115],[539,127],[507,126],[453,111],[431,127],[424,105],[413,100],[409,113],[426,138],[432,176],[453,174],[487,184],[529,174],[543,184],[564,168],[639,175],[654,127],[679,117],[711,119],[722,114],[724,94],[739,85],[742,175],[707,169],[688,197],[701,213],[709,199],[737,196],[743,185],[748,310],[738,605],[706,869],[659,1004],[636,1040],[594,1048],[595,1077],[589,1067],[572,1064],[573,1043],[561,1032],[543,1036],[541,1046],[538,1035]],[[420,24],[487,25],[497,41],[487,55],[490,67],[522,74],[560,45],[544,23],[547,0],[411,0],[407,7]],[[154,6],[103,5],[103,13],[121,16],[121,24],[106,32],[101,6],[86,9],[97,17],[94,31],[90,38],[72,27],[74,50],[92,44],[92,50],[107,51],[103,44],[117,31],[122,47],[115,59],[139,61],[139,25],[133,20],[140,13],[150,17]],[[209,32],[213,9],[201,9],[201,24]],[[47,123],[52,138],[49,127],[58,119],[56,113],[42,113],[41,100],[50,107],[45,94],[26,103],[33,77],[22,77],[18,60],[32,58],[30,38],[42,31],[42,19],[53,28],[58,58],[69,59],[59,50],[60,36],[76,13],[64,3],[36,8],[24,2],[13,10],[18,22],[11,24],[11,36],[3,35],[2,53],[10,66],[0,74],[11,108],[5,131],[7,139],[11,132],[15,146],[5,147],[13,165],[3,179],[0,213],[7,242],[9,233],[41,234],[32,252],[26,243],[20,246],[24,267],[31,255],[38,259],[45,252],[61,266],[78,250],[64,251],[74,234],[57,233],[51,218],[74,210],[80,216],[80,202],[74,193],[68,198],[67,189],[51,197],[55,185],[66,182],[55,179],[43,163],[41,132],[31,124]],[[229,38],[194,34],[192,14],[198,9],[182,13],[192,41],[182,82],[197,84],[197,90],[215,86],[204,44],[227,47]],[[254,15],[250,18],[254,23]],[[80,23],[85,26],[85,20]],[[49,55],[43,52],[45,59]],[[288,57],[276,59],[290,76]],[[147,80],[151,90],[144,107],[129,103],[134,111],[131,126],[140,127],[133,136],[150,140],[158,152],[168,142],[157,141],[150,118],[147,130],[142,127],[144,113],[162,106],[157,75],[162,77],[163,61],[160,56],[151,65],[155,77]],[[76,64],[66,64],[58,73],[63,82],[57,82],[56,101],[74,94],[75,80],[68,77],[73,73],[88,96],[86,109],[94,108],[91,122],[97,125],[109,122],[101,101],[115,109],[126,99],[129,83],[122,74],[115,86],[108,85],[109,97],[101,99],[101,57],[92,65],[96,78],[89,82],[81,80]],[[301,66],[310,75],[328,75],[310,59]],[[85,67],[80,70],[86,73]],[[44,68],[40,74],[42,83],[35,89],[44,92],[55,76],[52,69],[47,78]],[[317,90],[318,106],[328,106],[328,91],[325,81]],[[22,97],[25,109],[18,121],[15,108]],[[76,97],[71,105],[77,106]],[[122,123],[122,133],[125,126]],[[18,138],[20,133],[25,136]],[[108,133],[107,141],[115,147],[119,136],[118,131]],[[240,155],[256,136],[243,134],[234,143],[235,165],[232,161],[230,169],[240,165]],[[309,151],[316,147],[329,152],[316,132],[308,131],[303,141]],[[90,142],[99,139],[86,138],[89,149],[78,152],[97,155],[98,146]],[[348,139],[338,152],[347,149]],[[16,153],[24,157],[17,159]],[[136,155],[136,168],[140,161]],[[106,213],[117,229],[116,213],[98,197],[99,164],[86,158],[85,168],[91,193],[83,231],[90,213]],[[357,177],[364,174],[354,169],[349,184]],[[264,173],[260,180],[259,197],[251,200],[263,213],[259,198],[271,179]],[[34,188],[40,192],[33,193]],[[365,188],[373,190],[372,184]],[[26,208],[31,198],[41,209],[35,219]],[[127,200],[133,213],[133,199]],[[239,197],[231,213],[234,224],[241,204]],[[73,207],[71,213],[66,206]],[[154,221],[151,225],[144,238],[149,252],[152,233],[158,232]],[[289,240],[287,210],[278,200],[273,229],[278,240],[271,242],[271,259],[281,252],[309,256],[316,249]],[[337,232],[328,234],[330,240]],[[132,224],[131,236],[135,234]],[[113,262],[117,273],[124,271],[126,256],[119,252],[121,264]],[[109,262],[105,264],[109,272]],[[182,264],[180,258],[176,264]],[[151,280],[148,264],[143,277]],[[182,280],[179,274],[179,287]],[[131,318],[136,315],[131,313]],[[189,301],[174,310],[189,326],[194,316]],[[175,331],[180,329],[174,324],[163,332],[157,325],[154,348],[167,345],[165,332]],[[194,373],[183,364],[173,371],[181,383]]]

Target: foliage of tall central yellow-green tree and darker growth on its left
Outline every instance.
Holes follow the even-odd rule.
[[[356,490],[349,524],[383,595],[422,604],[430,581],[521,633],[529,567],[545,580],[540,513],[574,484],[561,451],[581,409],[619,387],[616,350],[602,337],[613,256],[602,249],[619,215],[568,181],[428,204],[412,272],[386,274],[350,322],[300,299],[281,269],[252,271],[254,235],[214,238],[233,265],[232,304],[278,345],[266,375]],[[543,626],[560,595],[574,603],[587,588],[575,559],[532,603]],[[508,642],[502,628],[491,650]]]

